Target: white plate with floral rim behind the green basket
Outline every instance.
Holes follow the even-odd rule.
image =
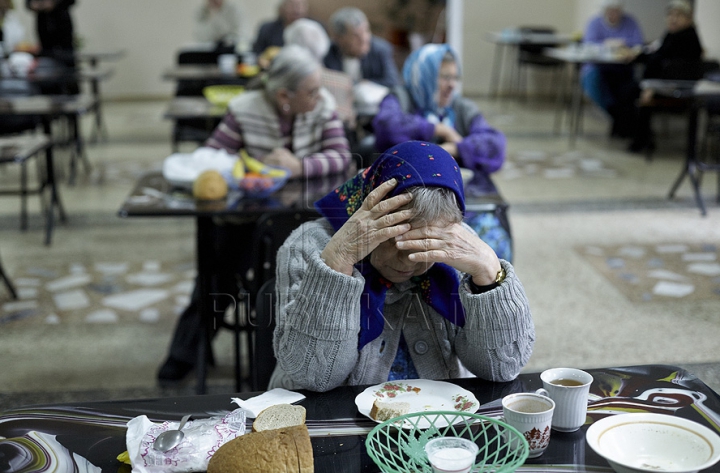
[[[410,404],[408,414],[426,411],[473,413],[480,407],[480,403],[473,393],[467,389],[444,381],[430,379],[404,379],[370,386],[355,397],[355,405],[362,415],[372,419],[370,409],[372,409],[376,399],[407,402]],[[375,422],[381,423],[377,420]],[[427,425],[424,425],[423,422]],[[444,425],[440,424],[437,426],[444,427]],[[418,423],[418,427],[428,428],[430,424],[427,421],[421,421]]]

